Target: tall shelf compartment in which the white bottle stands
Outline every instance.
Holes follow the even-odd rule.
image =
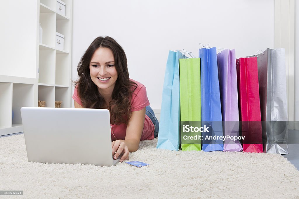
[[[39,23],[42,26],[42,44],[55,46],[56,13],[40,13]]]

